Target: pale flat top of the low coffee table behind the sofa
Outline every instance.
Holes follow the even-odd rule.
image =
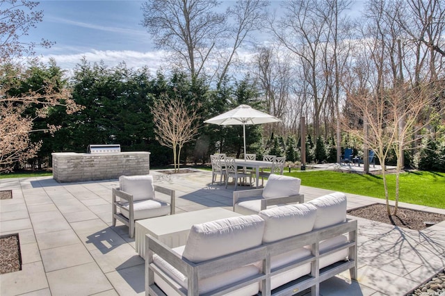
[[[206,208],[200,211],[137,220],[136,225],[139,224],[141,227],[149,229],[152,233],[156,233],[157,236],[161,236],[165,233],[190,230],[194,224],[239,216],[241,214],[226,210],[225,208]]]

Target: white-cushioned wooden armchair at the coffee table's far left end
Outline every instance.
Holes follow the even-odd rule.
[[[170,203],[156,199],[155,192],[170,195]],[[136,220],[175,213],[175,190],[154,185],[150,175],[120,176],[119,188],[113,188],[112,199],[113,226],[116,226],[116,220],[127,225],[130,238],[134,236]]]

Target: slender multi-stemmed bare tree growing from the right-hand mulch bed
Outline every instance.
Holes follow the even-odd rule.
[[[443,114],[443,106],[437,105],[441,97],[444,81],[423,83],[412,87],[410,83],[397,85],[395,88],[380,88],[378,92],[366,89],[348,94],[352,104],[366,122],[369,133],[365,135],[362,128],[344,122],[343,128],[370,147],[382,165],[382,178],[385,187],[388,215],[396,215],[398,210],[400,173],[403,169],[403,150],[408,149],[412,141],[418,139],[414,135],[430,124],[434,114]],[[404,122],[401,129],[400,122]],[[397,158],[396,167],[396,204],[391,213],[389,206],[389,190],[386,177],[386,163],[391,151]]]

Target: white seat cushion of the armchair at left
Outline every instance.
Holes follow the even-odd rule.
[[[129,203],[122,203],[120,213],[129,218]],[[133,202],[134,220],[148,219],[170,214],[170,204],[159,199],[145,199]]]

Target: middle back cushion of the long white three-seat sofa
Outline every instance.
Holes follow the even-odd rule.
[[[266,222],[263,242],[273,242],[312,231],[317,208],[312,204],[277,206],[259,212]]]

